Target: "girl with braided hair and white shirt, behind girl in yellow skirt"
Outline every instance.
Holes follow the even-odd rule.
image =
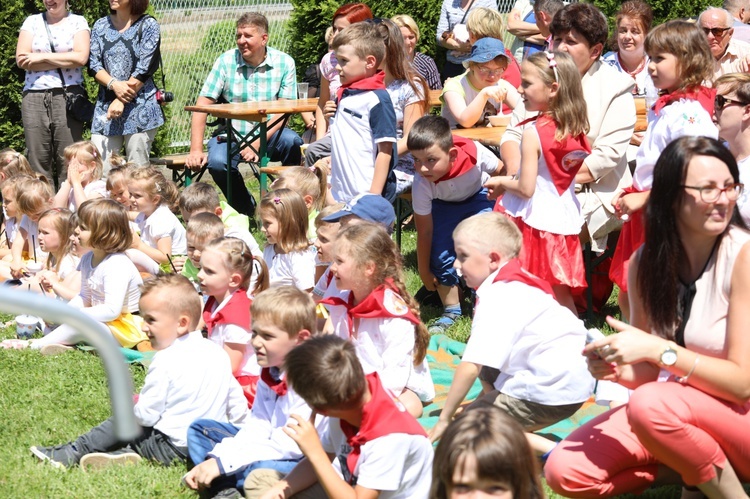
[[[172,213],[180,196],[177,186],[160,170],[147,166],[129,172],[128,191],[130,209],[138,212],[135,223],[141,231],[133,248],[169,268],[172,255],[187,255],[185,227]]]

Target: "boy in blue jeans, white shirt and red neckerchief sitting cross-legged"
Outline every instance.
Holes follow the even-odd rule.
[[[312,411],[287,388],[281,367],[292,348],[315,330],[315,304],[308,293],[279,286],[258,294],[252,316],[252,345],[262,370],[248,421],[240,428],[201,419],[188,430],[188,450],[196,466],[184,481],[192,489],[208,488],[211,497],[239,497],[237,489],[252,470],[288,472],[302,457],[283,427],[291,414],[307,419]]]

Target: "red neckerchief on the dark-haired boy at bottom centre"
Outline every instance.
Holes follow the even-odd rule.
[[[339,420],[346,443],[352,448],[346,457],[346,465],[352,476],[359,461],[360,448],[367,442],[395,433],[427,437],[422,425],[400,403],[396,405],[396,401],[380,383],[378,373],[368,374],[365,378],[372,398],[362,407],[362,423],[359,428],[343,419]]]

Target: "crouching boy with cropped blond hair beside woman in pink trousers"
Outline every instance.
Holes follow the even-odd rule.
[[[480,371],[485,394],[476,403],[500,407],[527,431],[570,417],[594,385],[581,356],[586,327],[555,301],[548,283],[521,268],[521,232],[505,215],[482,213],[464,220],[453,239],[456,268],[477,290],[477,306],[430,438],[440,438]],[[493,370],[499,374],[490,378]]]

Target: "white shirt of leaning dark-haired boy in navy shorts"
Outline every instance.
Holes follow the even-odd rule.
[[[477,146],[477,164],[463,175],[439,183],[425,180],[422,175],[414,176],[411,188],[412,207],[417,215],[432,213],[432,200],[458,202],[464,201],[476,194],[490,178],[490,174],[497,170],[498,160],[486,147],[479,142]]]

